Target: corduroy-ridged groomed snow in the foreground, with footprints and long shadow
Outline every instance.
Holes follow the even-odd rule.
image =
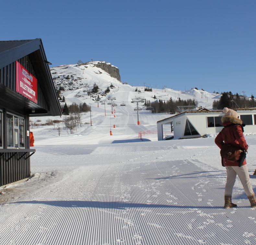
[[[186,159],[80,166],[2,205],[0,243],[255,244],[256,210],[222,209],[219,178]]]

